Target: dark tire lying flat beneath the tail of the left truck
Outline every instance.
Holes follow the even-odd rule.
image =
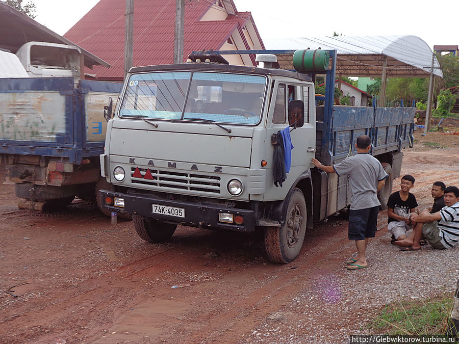
[[[31,183],[16,183],[14,184],[14,192],[16,197],[31,200],[30,196]],[[58,200],[62,198],[72,197],[76,194],[74,186],[55,187],[50,185],[35,185],[34,186],[35,201]],[[72,198],[73,199],[73,198]]]

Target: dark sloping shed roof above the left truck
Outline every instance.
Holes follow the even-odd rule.
[[[0,32],[2,33],[0,47],[14,53],[22,44],[31,41],[77,45],[4,2],[0,2]],[[79,48],[83,53],[85,66],[89,68],[92,68],[93,65],[110,67],[104,60]]]

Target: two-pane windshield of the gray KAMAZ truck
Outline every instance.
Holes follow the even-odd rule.
[[[205,119],[257,124],[266,77],[216,72],[133,74],[119,115],[151,119]]]

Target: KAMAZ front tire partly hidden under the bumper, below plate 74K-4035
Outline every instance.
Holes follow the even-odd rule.
[[[140,215],[133,215],[134,228],[137,234],[148,243],[162,243],[175,232],[177,225],[164,223]]]

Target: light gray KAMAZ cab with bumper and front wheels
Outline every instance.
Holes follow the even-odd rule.
[[[282,130],[294,148],[286,180],[275,186]],[[115,192],[100,197],[133,214],[146,241],[167,239],[177,224],[262,227],[273,233],[267,240],[280,240],[267,248],[270,258],[290,261],[312,225],[315,130],[314,84],[305,74],[197,62],[132,68],[101,155]]]

